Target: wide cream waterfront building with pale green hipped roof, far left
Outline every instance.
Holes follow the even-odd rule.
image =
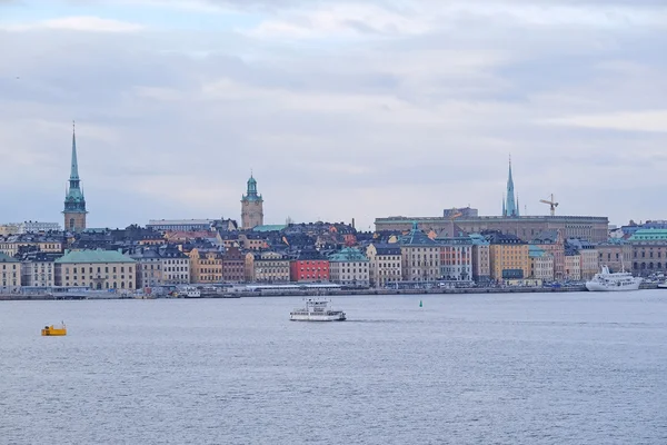
[[[133,290],[136,269],[137,261],[118,250],[66,250],[56,259],[56,286]]]

